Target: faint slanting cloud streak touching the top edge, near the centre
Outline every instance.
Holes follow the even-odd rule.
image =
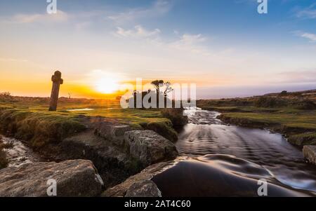
[[[126,22],[136,20],[138,18],[149,18],[164,15],[165,13],[168,13],[171,8],[171,1],[157,0],[149,8],[132,8],[122,13],[107,16],[107,18],[114,20],[115,22]]]

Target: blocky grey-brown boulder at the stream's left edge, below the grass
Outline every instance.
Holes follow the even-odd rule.
[[[137,158],[144,166],[173,160],[178,156],[176,146],[152,130],[125,132],[124,145],[128,153]]]

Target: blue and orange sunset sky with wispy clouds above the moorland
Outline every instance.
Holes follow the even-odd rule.
[[[0,0],[0,92],[103,97],[101,82],[196,83],[199,99],[316,88],[316,1]],[[112,81],[112,82],[111,82]],[[115,81],[115,83],[113,83]]]

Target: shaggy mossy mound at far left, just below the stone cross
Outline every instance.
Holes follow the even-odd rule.
[[[1,133],[26,140],[34,148],[59,142],[85,128],[74,115],[13,107],[0,107],[0,126]]]

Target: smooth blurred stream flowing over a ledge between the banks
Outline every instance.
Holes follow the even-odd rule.
[[[226,125],[215,111],[195,111],[176,147],[183,157],[155,176],[163,196],[315,196],[316,166],[301,149],[269,130]]]

